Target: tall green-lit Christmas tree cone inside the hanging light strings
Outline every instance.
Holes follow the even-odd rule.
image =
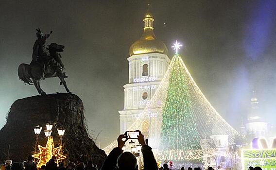
[[[161,146],[163,150],[200,150],[200,136],[191,108],[189,82],[181,61],[181,57],[175,54],[162,113]]]

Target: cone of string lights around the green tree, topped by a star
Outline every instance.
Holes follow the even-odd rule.
[[[176,42],[174,48],[181,44]],[[156,117],[148,117],[157,113]],[[141,130],[153,148],[157,160],[199,160],[213,155],[214,149],[202,149],[200,140],[211,135],[228,135],[234,141],[238,133],[217,113],[192,79],[176,51],[153,98],[128,131]],[[104,150],[109,153],[117,141]]]

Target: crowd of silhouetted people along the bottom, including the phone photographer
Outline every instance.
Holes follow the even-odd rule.
[[[168,164],[163,164],[163,167],[158,168],[152,148],[145,142],[144,136],[140,131],[138,142],[142,146],[141,152],[143,154],[143,170],[171,170]],[[107,156],[104,164],[98,169],[96,164],[92,161],[88,161],[87,164],[84,162],[78,162],[77,164],[71,162],[66,167],[62,162],[56,163],[56,157],[52,156],[46,165],[41,166],[39,169],[36,168],[34,159],[32,156],[28,157],[27,161],[24,162],[12,162],[12,160],[6,160],[5,165],[2,166],[1,170],[138,170],[138,161],[136,156],[130,152],[123,152],[122,148],[125,146],[128,138],[125,135],[120,135],[117,139],[118,147],[114,148]],[[176,169],[173,169],[176,170]],[[182,167],[180,170],[185,170]],[[188,168],[192,170],[192,168]],[[201,168],[194,168],[194,170],[201,170]],[[207,170],[214,170],[212,167],[208,167]],[[262,170],[260,167],[249,167],[249,170]]]

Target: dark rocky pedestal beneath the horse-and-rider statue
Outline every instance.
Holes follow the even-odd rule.
[[[99,166],[106,154],[99,149],[87,134],[82,100],[68,93],[32,96],[14,102],[7,116],[5,126],[0,130],[0,155],[13,161],[24,161],[35,151],[34,127],[45,129],[47,122],[53,123],[52,136],[55,147],[59,146],[58,127],[65,129],[63,152],[68,161],[92,160]],[[41,131],[38,144],[45,146],[46,137]]]

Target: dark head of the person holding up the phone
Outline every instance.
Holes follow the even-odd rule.
[[[138,170],[136,157],[130,152],[121,153],[117,159],[117,168],[119,170]]]

